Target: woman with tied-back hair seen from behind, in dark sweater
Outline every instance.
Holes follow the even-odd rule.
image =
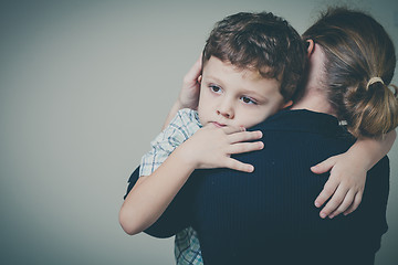
[[[163,236],[193,226],[206,264],[373,264],[387,229],[387,159],[369,171],[362,208],[333,221],[318,219],[308,206],[326,181],[311,176],[308,168],[353,144],[335,117],[346,120],[354,136],[381,136],[397,126],[397,99],[387,87],[396,63],[394,45],[370,17],[343,9],[326,13],[303,39],[310,70],[302,97],[292,110],[256,127],[263,131],[264,150],[239,156],[255,166],[253,176],[198,172],[149,233]],[[193,105],[195,93],[189,95]],[[329,206],[336,209],[332,215],[359,204],[360,192],[328,187],[320,204],[333,192],[344,198],[337,208]],[[178,211],[189,211],[187,205],[195,211],[179,220]]]

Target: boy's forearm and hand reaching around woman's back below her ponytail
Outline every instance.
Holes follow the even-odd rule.
[[[321,218],[332,219],[342,212],[346,215],[358,208],[367,171],[388,153],[396,135],[392,130],[379,139],[360,137],[347,152],[331,157],[311,168],[314,173],[331,171],[329,179],[315,200],[315,205],[320,208],[333,195],[322,209]]]

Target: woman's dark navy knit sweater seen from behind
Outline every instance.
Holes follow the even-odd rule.
[[[368,172],[354,213],[323,220],[314,201],[328,174],[310,168],[345,152],[353,137],[333,116],[308,110],[280,112],[253,129],[264,149],[235,156],[253,173],[195,171],[146,233],[167,237],[192,226],[206,265],[373,264],[387,231],[388,158]],[[137,170],[128,191],[136,179]]]

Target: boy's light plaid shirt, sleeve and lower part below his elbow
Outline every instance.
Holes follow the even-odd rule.
[[[201,127],[198,113],[180,109],[164,131],[150,142],[151,150],[144,155],[139,176],[149,176],[170,153]],[[197,232],[187,227],[176,234],[175,257],[178,265],[203,264]]]

